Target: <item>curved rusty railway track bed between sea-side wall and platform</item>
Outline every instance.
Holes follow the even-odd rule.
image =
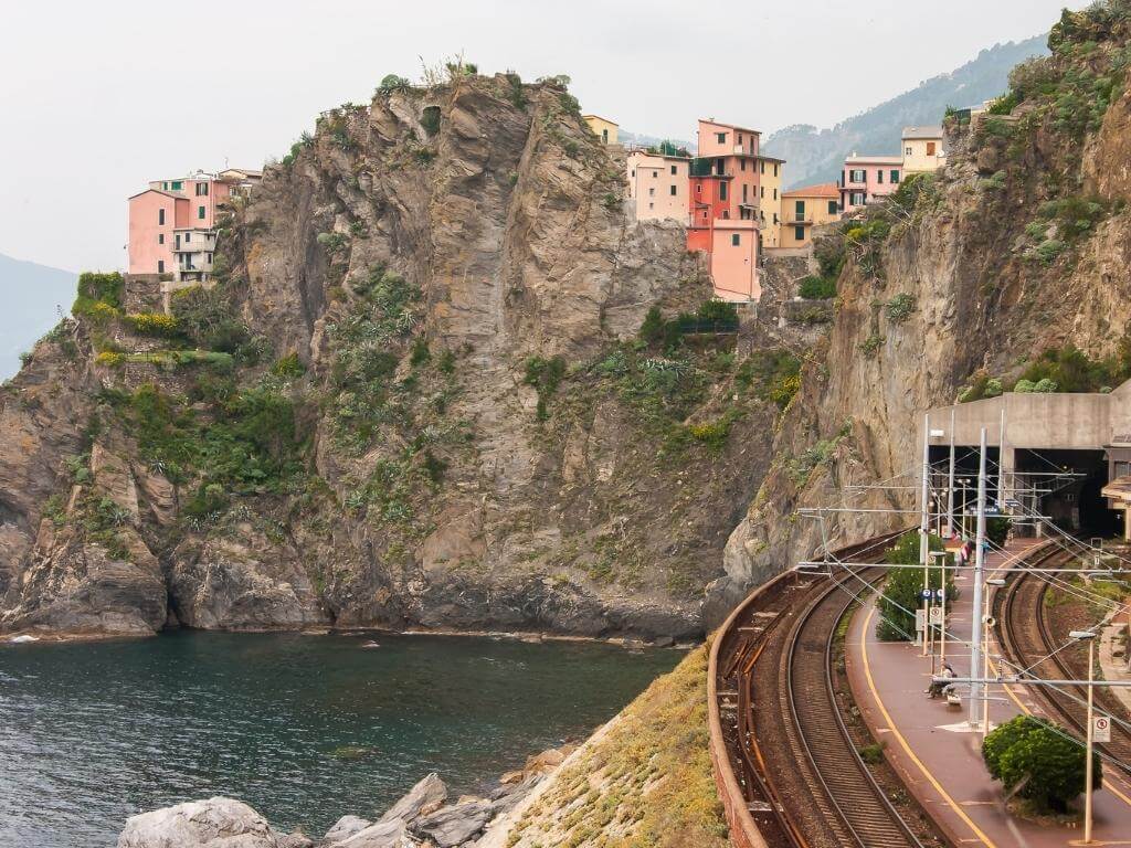
[[[866,560],[900,533],[836,556]],[[838,625],[881,578],[879,569],[779,576],[716,634],[711,760],[739,848],[922,847],[862,761],[834,689]]]

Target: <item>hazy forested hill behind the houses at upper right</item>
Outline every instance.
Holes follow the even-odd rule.
[[[995,44],[958,70],[921,83],[832,129],[794,124],[768,136],[762,147],[788,163],[788,188],[831,182],[840,175],[844,158],[853,150],[898,155],[904,127],[941,123],[948,105],[973,106],[1002,94],[1013,66],[1048,53],[1046,40],[1046,35],[1038,35],[1019,43]]]

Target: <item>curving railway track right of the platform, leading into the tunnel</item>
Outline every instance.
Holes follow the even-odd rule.
[[[1030,568],[1059,568],[1077,559],[1060,547],[1038,551],[1027,564]],[[994,598],[998,639],[1004,654],[1021,668],[1028,668],[1038,677],[1079,680],[1079,669],[1073,669],[1062,648],[1068,634],[1054,637],[1050,625],[1045,595],[1048,583],[1038,574],[1016,573]],[[1056,652],[1054,652],[1056,651]],[[1052,655],[1052,656],[1050,656]],[[1085,668],[1087,663],[1083,664]],[[1086,672],[1085,672],[1086,673]],[[1033,696],[1046,708],[1051,718],[1071,728],[1080,738],[1087,733],[1087,710],[1083,701],[1088,693],[1082,686],[1031,687]],[[1076,700],[1079,699],[1079,700]],[[1122,715],[1122,709],[1112,703],[1103,689],[1096,691],[1096,703],[1106,712]],[[1131,777],[1131,734],[1112,722],[1112,741],[1097,750],[1112,758],[1110,768],[1116,768]]]

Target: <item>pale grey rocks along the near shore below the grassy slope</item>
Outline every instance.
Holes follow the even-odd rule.
[[[470,848],[576,750],[567,744],[530,756],[483,797],[451,799],[432,772],[381,816],[343,815],[320,838],[301,829],[283,833],[248,804],[217,796],[129,817],[118,848]]]

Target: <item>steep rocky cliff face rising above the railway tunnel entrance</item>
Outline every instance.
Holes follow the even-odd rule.
[[[948,120],[944,173],[905,184],[827,246],[844,256],[836,320],[727,543],[713,609],[818,548],[819,525],[796,509],[913,505],[909,492],[843,487],[914,473],[918,415],[964,387],[1008,387],[1065,346],[1129,375],[1129,20],[1123,2],[1067,12],[1053,55],[1015,71],[1004,114]],[[915,522],[829,521],[830,543]]]

